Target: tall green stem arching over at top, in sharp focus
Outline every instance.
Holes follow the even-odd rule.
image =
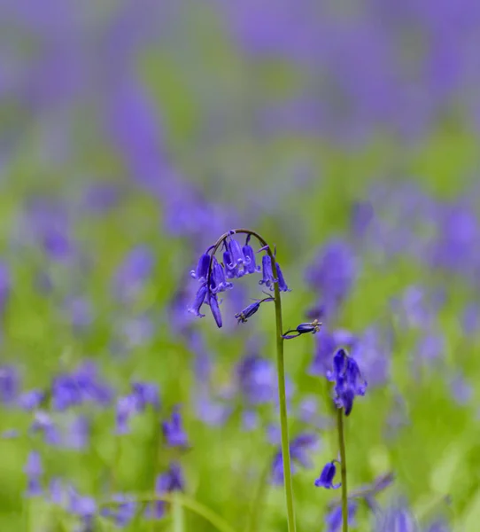
[[[210,268],[207,277],[207,285],[210,284],[210,275],[212,273],[213,255],[221,246],[225,239],[232,234],[243,233],[252,235],[259,240],[262,247],[265,247],[267,254],[272,259],[272,272],[275,278],[278,278],[276,271],[275,254],[267,241],[260,237],[259,233],[249,229],[235,229],[221,235],[220,239],[215,242],[210,261]],[[287,398],[285,394],[285,364],[283,361],[283,323],[282,323],[282,300],[280,298],[280,289],[278,283],[274,284],[275,293],[275,325],[276,325],[276,371],[278,376],[278,403],[280,405],[280,429],[282,433],[282,458],[283,458],[283,478],[285,485],[285,498],[287,502],[287,522],[289,532],[295,532],[295,512],[293,510],[293,489],[291,486],[291,468],[290,468],[290,445],[289,445],[289,426],[287,417]]]

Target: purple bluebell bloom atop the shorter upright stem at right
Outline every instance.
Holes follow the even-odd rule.
[[[365,395],[367,381],[363,379],[360,368],[351,356],[347,356],[345,349],[338,349],[333,357],[333,372],[327,378],[335,381],[335,403],[337,408],[344,408],[345,416],[350,415],[353,399],[356,395]]]

